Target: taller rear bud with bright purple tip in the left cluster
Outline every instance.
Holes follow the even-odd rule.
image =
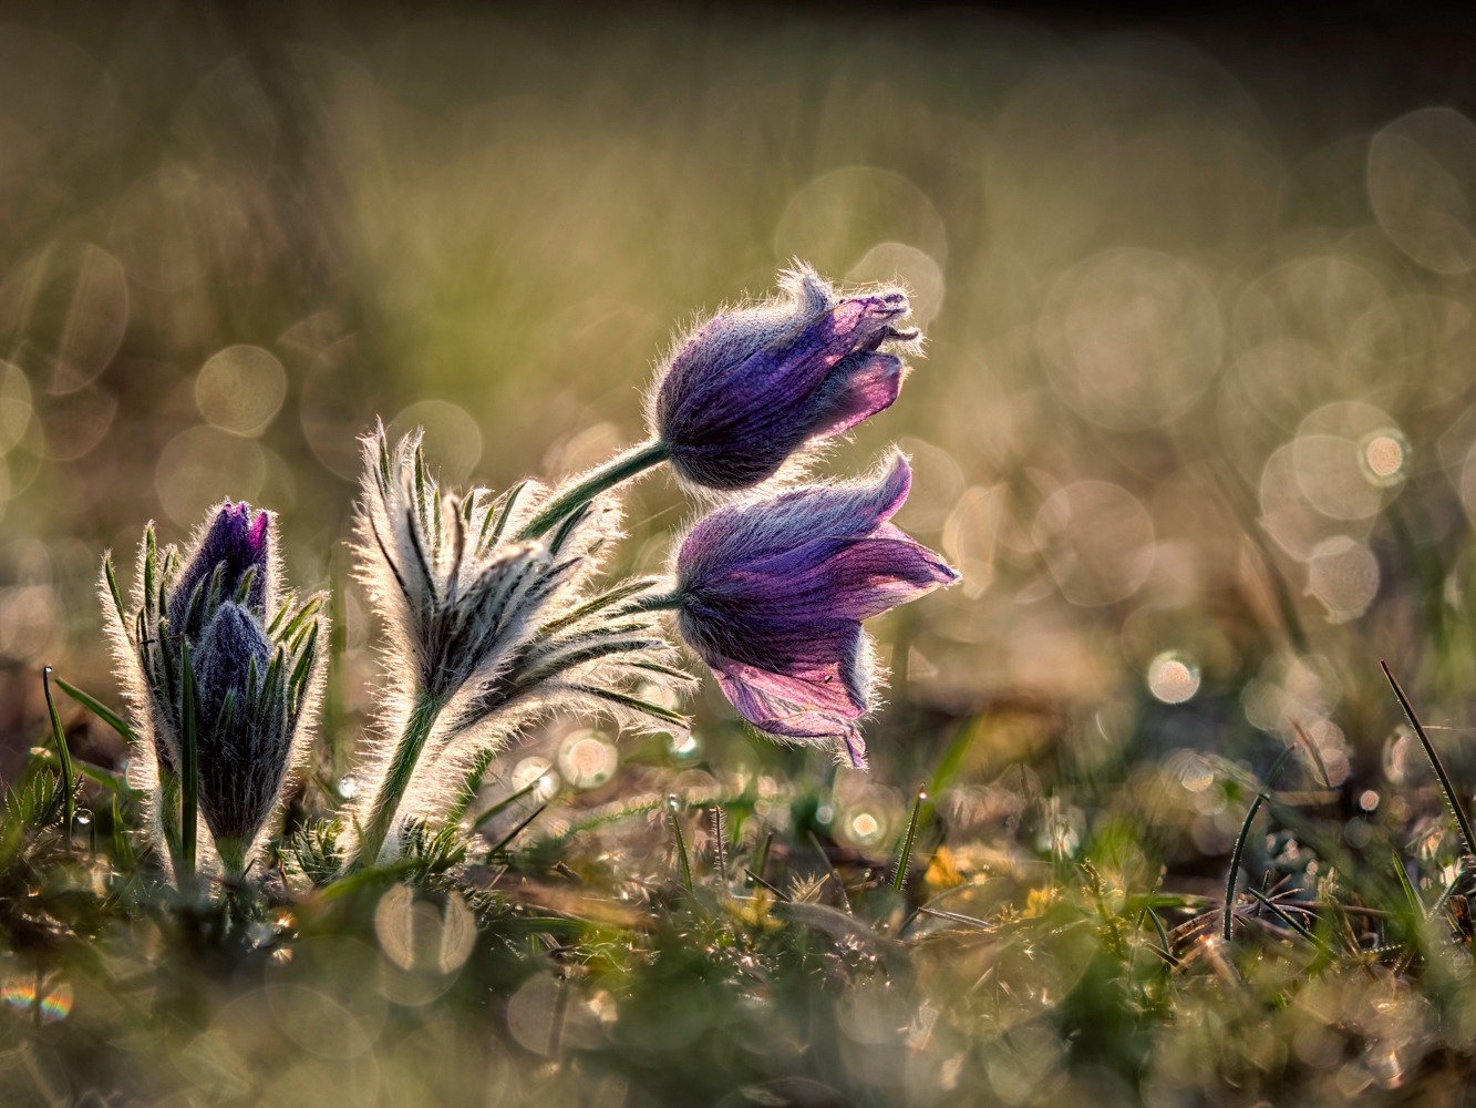
[[[183,632],[190,640],[199,637],[201,628],[210,616],[205,606],[217,566],[221,569],[221,600],[233,600],[249,572],[252,576],[245,604],[254,612],[264,612],[270,545],[270,513],[252,514],[251,505],[245,502],[226,501],[221,504],[210,527],[199,536],[195,553],[180,567],[179,576],[170,587],[167,615],[173,632]],[[198,601],[193,600],[196,589],[199,589]]]

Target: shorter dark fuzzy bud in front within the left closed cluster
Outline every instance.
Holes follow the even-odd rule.
[[[249,844],[272,814],[292,745],[286,706],[269,703],[272,644],[251,612],[226,601],[193,657],[201,813],[217,842]]]

